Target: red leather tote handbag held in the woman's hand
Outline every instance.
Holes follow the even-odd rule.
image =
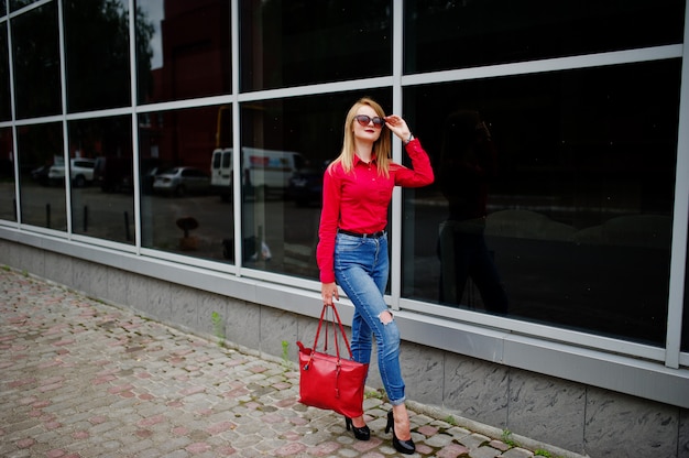
[[[326,312],[330,307],[332,307],[332,319],[326,319]],[[320,352],[316,349],[324,320],[326,321],[326,339],[324,352]],[[326,353],[330,326],[335,337],[335,356]],[[340,358],[338,328],[347,345],[350,359]],[[352,350],[335,304],[322,306],[314,348],[306,348],[300,341],[297,341],[297,346],[299,347],[299,402],[313,407],[335,411],[350,418],[363,415],[363,389],[369,364],[351,360]]]

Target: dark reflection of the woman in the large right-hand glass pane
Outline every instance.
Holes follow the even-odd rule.
[[[438,242],[440,302],[459,304],[471,277],[485,309],[504,314],[507,296],[483,238],[488,189],[496,171],[490,131],[477,111],[461,110],[449,116],[444,135],[438,183],[449,215]]]

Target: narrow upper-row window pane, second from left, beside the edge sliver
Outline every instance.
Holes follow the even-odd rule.
[[[12,19],[12,45],[17,117],[62,112],[57,3]]]

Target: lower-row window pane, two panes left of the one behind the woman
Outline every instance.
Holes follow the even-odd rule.
[[[73,232],[133,243],[130,117],[72,121],[68,131]]]

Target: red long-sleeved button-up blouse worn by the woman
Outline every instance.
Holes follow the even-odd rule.
[[[394,186],[422,187],[433,183],[434,173],[428,154],[418,139],[405,146],[412,168],[390,164],[390,176],[380,176],[375,163],[354,157],[352,171],[333,164],[324,174],[322,210],[318,229],[316,260],[322,283],[335,282],[335,239],[338,229],[372,233],[387,226],[387,207]]]

